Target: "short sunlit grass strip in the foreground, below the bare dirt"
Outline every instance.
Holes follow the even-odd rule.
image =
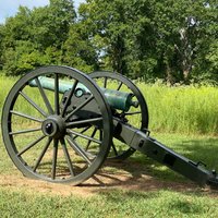
[[[1,217],[217,217],[217,203],[198,193],[102,192],[95,197],[60,197],[0,190]],[[9,203],[10,201],[10,203]]]

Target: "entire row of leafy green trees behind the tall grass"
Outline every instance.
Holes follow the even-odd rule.
[[[17,13],[0,25],[0,70],[40,65],[112,70],[171,84],[218,80],[217,0],[73,0]]]

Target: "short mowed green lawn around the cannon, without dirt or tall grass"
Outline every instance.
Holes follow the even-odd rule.
[[[207,162],[209,168],[218,166],[216,137],[178,134],[155,136],[177,152]],[[185,178],[138,153],[123,164],[102,169],[106,174],[112,171],[114,178],[116,174],[119,178],[121,172],[131,174],[132,181],[142,177],[138,189],[128,189],[128,182],[123,189],[116,184],[97,185],[88,187],[88,192],[94,193],[90,196],[88,193],[84,195],[86,186],[76,187],[76,193],[65,196],[59,192],[51,194],[48,189],[44,192],[37,187],[22,187],[22,180],[17,180],[17,184],[11,183],[10,177],[21,178],[21,174],[13,167],[2,142],[0,154],[0,179],[7,175],[9,180],[8,185],[4,181],[3,186],[0,186],[0,217],[218,217],[217,191],[195,186]],[[158,182],[162,185],[159,186]],[[144,187],[144,183],[150,190]],[[134,184],[137,185],[137,182]]]

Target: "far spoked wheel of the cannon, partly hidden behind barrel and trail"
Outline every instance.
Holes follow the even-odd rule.
[[[141,90],[131,80],[121,74],[108,71],[94,72],[90,73],[89,76],[98,84],[99,87],[133,94],[133,100],[138,101],[138,107],[131,107],[128,112],[122,110],[113,110],[113,117],[117,117],[123,122],[146,132],[148,126],[147,104]],[[134,152],[135,149],[130,148],[124,143],[113,138],[108,158],[125,159]]]

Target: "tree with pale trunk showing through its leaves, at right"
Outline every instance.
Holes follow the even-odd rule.
[[[205,55],[215,40],[211,29],[216,29],[217,9],[203,0],[168,0],[156,7],[157,48],[164,57],[159,60],[164,61],[167,80],[189,82],[191,73],[201,73],[206,63]]]

